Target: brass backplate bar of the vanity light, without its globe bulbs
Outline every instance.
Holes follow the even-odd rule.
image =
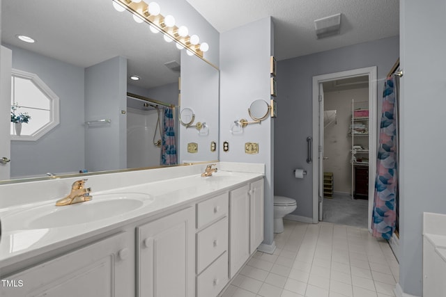
[[[178,33],[178,26],[166,26],[165,17],[161,14],[151,15],[149,13],[148,4],[144,1],[136,2],[132,0],[112,0],[114,3],[123,6],[123,8],[130,11],[130,13],[136,15],[137,17],[143,19],[146,23],[154,26],[155,29],[167,35],[169,38],[174,40],[177,44],[183,46],[188,51],[191,51],[193,54],[203,58],[203,51],[201,49],[208,49],[208,44],[203,42],[204,47],[201,48],[201,45],[197,43],[193,45],[190,41],[190,36],[184,34],[180,35]]]

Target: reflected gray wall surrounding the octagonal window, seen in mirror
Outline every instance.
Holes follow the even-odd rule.
[[[36,73],[59,96],[61,119],[59,126],[38,141],[11,141],[11,177],[83,169],[84,68],[5,46],[13,50],[13,68]],[[63,150],[61,144],[72,149]]]

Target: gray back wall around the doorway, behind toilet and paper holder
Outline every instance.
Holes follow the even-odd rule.
[[[317,180],[311,178],[312,164],[306,163],[306,138],[312,135],[312,78],[376,65],[379,98],[383,79],[398,57],[399,38],[393,37],[277,62],[274,188],[275,195],[297,201],[293,215],[313,217],[312,186]],[[307,177],[295,179],[295,168],[307,170]]]

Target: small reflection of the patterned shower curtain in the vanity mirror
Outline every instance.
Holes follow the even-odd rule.
[[[164,130],[162,133],[161,165],[174,165],[177,163],[175,143],[174,109],[164,107]]]

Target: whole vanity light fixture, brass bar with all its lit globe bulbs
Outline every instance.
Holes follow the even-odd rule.
[[[132,0],[112,0],[116,2],[119,6],[124,7],[126,10],[130,11],[132,15],[136,15],[134,19],[139,22],[142,19],[143,22],[151,25],[151,31],[153,33],[162,32],[167,35],[171,40],[178,43],[178,49],[187,49],[187,54],[190,56],[197,55],[203,58],[204,50],[209,49],[208,44],[199,44],[199,37],[197,35],[188,35],[187,27],[180,26],[178,28],[175,25],[175,18],[172,15],[167,15],[164,17],[160,14],[160,6],[155,3],[146,3],[144,1],[132,1]],[[170,41],[169,38],[165,38]],[[206,43],[206,42],[203,42]]]

